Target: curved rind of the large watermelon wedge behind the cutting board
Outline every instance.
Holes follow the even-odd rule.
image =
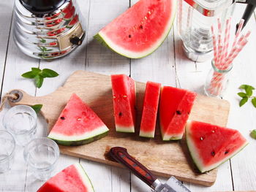
[[[176,2],[176,1],[174,1]],[[113,48],[113,46],[110,45],[110,42],[106,42],[105,39],[107,39],[107,37],[104,37],[104,34],[102,34],[100,31],[98,34],[94,35],[94,39],[96,39],[101,45],[103,45],[104,47],[108,47],[110,48],[110,50],[113,50],[113,52],[116,52],[118,53],[119,55],[123,55],[124,57],[127,57],[127,58],[144,58],[146,57],[147,55],[150,55],[151,53],[153,53],[155,50],[157,50],[158,47],[160,47],[162,45],[162,43],[165,41],[165,39],[167,38],[168,34],[170,33],[170,29],[172,28],[173,26],[173,22],[174,22],[174,19],[176,18],[176,12],[177,12],[177,3],[173,6],[175,7],[174,11],[173,11],[173,15],[170,16],[170,23],[168,24],[169,25],[169,28],[166,29],[165,33],[162,35],[161,38],[159,38],[159,42],[155,43],[155,46],[152,47],[151,49],[148,49],[144,52],[144,54],[138,54],[136,52],[131,52],[131,51],[128,51],[132,54],[138,54],[138,56],[134,56],[132,54],[125,54],[125,53],[121,53],[121,51],[119,51],[120,49],[122,49],[122,47],[119,47],[119,50],[118,49],[115,49]],[[113,44],[114,45],[114,44]]]

